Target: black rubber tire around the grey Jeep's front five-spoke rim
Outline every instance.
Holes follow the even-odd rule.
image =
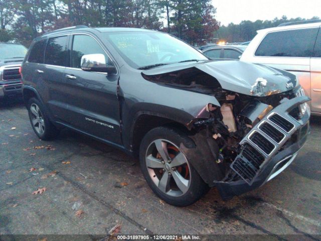
[[[185,134],[183,131],[168,128],[168,127],[157,127],[155,129],[152,129],[149,131],[143,138],[141,144],[140,144],[140,150],[139,150],[139,162],[140,162],[140,168],[144,175],[144,178],[146,179],[149,187],[153,190],[153,192],[163,199],[164,201],[175,205],[175,206],[188,206],[199,200],[203,195],[207,193],[207,191],[210,189],[209,186],[203,181],[203,179],[200,177],[198,172],[193,168],[191,165],[191,162],[189,161],[189,157],[184,154],[184,157],[187,160],[189,165],[189,186],[186,187],[186,192],[182,192],[182,195],[178,196],[172,196],[166,193],[166,191],[162,191],[158,186],[161,182],[161,179],[163,178],[163,175],[165,174],[166,169],[164,168],[164,173],[161,174],[162,176],[159,176],[158,180],[158,186],[156,185],[157,179],[155,179],[156,172],[154,170],[160,170],[160,169],[151,169],[152,175],[150,175],[150,168],[147,167],[147,156],[149,155],[149,150],[151,145],[154,145],[155,142],[157,142],[159,139],[163,139],[163,141],[169,141],[172,144],[175,144],[175,146],[178,148],[179,153],[181,153],[180,146],[181,143],[184,144],[185,147],[191,147],[195,146],[194,142],[188,137],[187,134]],[[159,141],[158,141],[159,142]],[[163,143],[163,142],[162,142]],[[171,144],[170,144],[171,145]],[[168,146],[168,144],[166,144]],[[157,149],[158,150],[158,149]],[[148,153],[147,153],[148,151]],[[157,152],[157,151],[156,151]],[[159,152],[157,152],[158,156],[160,155]],[[164,162],[164,159],[160,159],[162,163]],[[174,159],[173,159],[174,160]],[[165,162],[166,163],[166,162]],[[174,161],[173,161],[174,163]],[[158,165],[158,164],[157,164]],[[172,168],[173,169],[173,168]],[[174,179],[174,171],[169,169],[169,172],[172,172],[170,175],[170,178]],[[149,172],[148,172],[149,171]],[[153,178],[153,180],[152,180]],[[156,180],[156,183],[155,183]],[[171,181],[170,181],[171,182]],[[176,182],[176,181],[175,181]],[[169,183],[169,181],[167,182]],[[168,185],[168,184],[167,184]],[[167,190],[165,188],[165,190]],[[180,191],[180,190],[179,190]]]

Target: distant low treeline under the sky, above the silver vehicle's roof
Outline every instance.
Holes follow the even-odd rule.
[[[313,17],[310,20],[316,20],[318,17]],[[269,20],[256,20],[255,22],[251,21],[242,21],[240,24],[230,23],[228,26],[221,26],[216,33],[216,37],[219,39],[224,39],[225,41],[232,42],[246,42],[250,41],[256,35],[256,31],[260,29],[276,27],[282,23],[303,21],[309,19],[295,18],[287,19],[286,16],[282,18],[275,18],[272,21]]]

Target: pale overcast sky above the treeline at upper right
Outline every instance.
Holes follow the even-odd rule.
[[[321,0],[212,0],[216,20],[222,25],[242,20],[273,20],[290,18],[321,18]]]

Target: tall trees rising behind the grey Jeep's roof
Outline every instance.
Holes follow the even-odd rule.
[[[219,28],[215,12],[211,0],[0,0],[1,28],[27,46],[45,32],[75,25],[148,28],[202,43]]]

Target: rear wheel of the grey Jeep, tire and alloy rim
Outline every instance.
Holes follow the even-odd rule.
[[[28,112],[31,126],[40,139],[49,140],[58,134],[58,130],[50,122],[38,99],[31,98],[29,100]]]

